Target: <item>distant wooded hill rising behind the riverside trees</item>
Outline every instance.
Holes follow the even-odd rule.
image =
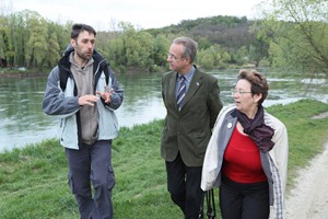
[[[234,53],[242,46],[249,47],[256,42],[256,34],[250,33],[250,26],[255,21],[246,16],[211,16],[196,20],[183,20],[179,24],[162,28],[147,30],[152,34],[187,35],[199,43],[200,48],[220,44],[226,50]],[[202,42],[207,42],[202,44]]]

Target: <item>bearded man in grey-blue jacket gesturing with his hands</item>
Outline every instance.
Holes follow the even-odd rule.
[[[115,110],[124,93],[108,61],[95,50],[95,36],[92,26],[72,26],[70,46],[48,77],[43,111],[60,119],[60,143],[80,217],[109,219],[115,185],[112,140],[118,132]]]

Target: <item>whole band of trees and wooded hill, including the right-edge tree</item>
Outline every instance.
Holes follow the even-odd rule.
[[[328,2],[263,3],[270,10],[262,9],[257,20],[218,15],[149,30],[118,22],[112,31],[97,32],[96,49],[116,71],[152,72],[167,65],[173,38],[190,36],[198,42],[197,65],[204,69],[254,65],[327,77]],[[68,46],[71,26],[30,10],[0,14],[0,67],[52,68]]]

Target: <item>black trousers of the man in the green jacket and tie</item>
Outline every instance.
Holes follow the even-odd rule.
[[[166,161],[167,189],[186,219],[198,219],[203,192],[200,188],[202,166],[186,166],[180,154]]]

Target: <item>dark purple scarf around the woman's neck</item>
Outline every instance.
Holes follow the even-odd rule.
[[[271,139],[274,130],[265,124],[265,110],[262,106],[258,107],[254,119],[248,118],[239,111],[237,111],[237,118],[244,128],[244,132],[250,136],[260,151],[268,152],[273,148],[274,142]]]

